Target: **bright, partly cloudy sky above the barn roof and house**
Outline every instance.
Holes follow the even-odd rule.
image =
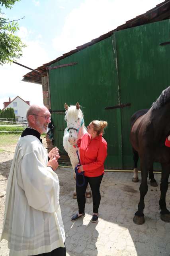
[[[5,18],[19,20],[17,35],[27,47],[17,62],[37,68],[76,46],[147,12],[163,0],[21,0],[12,9],[1,8]],[[16,64],[0,66],[0,109],[10,97],[43,104],[42,86],[22,82],[31,70]]]

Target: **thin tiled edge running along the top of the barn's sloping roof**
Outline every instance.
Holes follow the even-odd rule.
[[[70,50],[69,52],[64,53],[62,56],[59,56],[59,57],[57,57],[55,60],[52,60],[52,61],[50,61],[50,62],[47,62],[47,63],[43,64],[42,66],[39,66],[39,67],[36,68],[35,70],[41,69],[42,71],[44,70],[44,72],[45,72],[47,66],[50,66],[51,64],[54,64],[55,62],[57,62],[57,61],[59,61],[59,60],[61,60],[61,59],[63,59],[63,58],[66,58],[66,56],[70,56],[71,54],[73,54],[73,53],[75,53],[75,52],[78,52],[78,51],[80,51],[80,50],[83,50],[84,48],[86,48],[86,47],[88,47],[88,46],[91,46],[92,44],[95,44],[96,42],[100,42],[100,41],[102,41],[102,40],[108,38],[109,36],[111,36],[111,35],[113,34],[113,32],[116,32],[116,31],[120,30],[121,28],[122,28],[122,29],[123,29],[123,28],[127,28],[127,26],[128,26],[129,23],[135,23],[135,22],[137,23],[137,22],[141,19],[141,17],[144,17],[144,16],[149,15],[149,13],[152,13],[154,10],[158,10],[158,9],[162,8],[164,5],[167,5],[168,3],[170,3],[170,0],[165,0],[164,2],[161,2],[160,4],[157,4],[156,7],[154,7],[154,8],[152,8],[152,9],[148,10],[147,12],[145,12],[145,13],[143,13],[143,14],[141,14],[141,15],[139,15],[139,16],[137,16],[137,17],[131,19],[131,20],[126,21],[124,24],[122,24],[122,25],[120,25],[120,26],[117,26],[117,28],[115,28],[115,29],[113,29],[113,30],[111,30],[111,31],[109,31],[109,32],[107,32],[107,33],[105,33],[105,34],[99,36],[98,38],[92,39],[90,42],[87,42],[87,43],[85,43],[85,44],[82,44],[82,46],[77,46],[76,49]],[[131,26],[131,27],[132,27],[132,26]],[[130,27],[129,27],[129,28],[130,28]],[[71,54],[70,54],[70,53],[71,53]],[[27,77],[27,75],[29,75],[29,74],[33,75],[33,71],[31,71],[31,72],[25,74],[25,75],[23,76],[23,80],[26,79],[25,77]],[[36,76],[34,76],[34,77],[36,77]],[[23,81],[23,80],[22,80],[22,81]],[[27,80],[27,79],[26,79],[26,80]],[[27,81],[25,81],[25,82],[27,82]],[[39,82],[37,82],[37,83],[39,83]]]

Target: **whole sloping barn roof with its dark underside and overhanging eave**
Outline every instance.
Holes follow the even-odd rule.
[[[36,70],[39,72],[42,72],[44,74],[44,76],[46,76],[47,75],[47,72],[46,72],[47,66],[50,66],[51,64],[53,64],[59,60],[62,60],[63,58],[66,58],[67,56],[70,56],[70,55],[74,54],[75,52],[78,52],[88,46],[91,46],[92,44],[96,44],[96,42],[100,42],[101,40],[108,38],[115,31],[123,30],[126,28],[133,28],[135,26],[140,26],[140,25],[144,25],[144,24],[148,24],[148,23],[152,23],[152,22],[156,22],[156,21],[160,21],[160,20],[165,20],[168,18],[170,18],[170,0],[165,0],[164,2],[161,2],[160,4],[157,4],[156,7],[150,9],[146,13],[141,14],[131,20],[128,20],[125,24],[118,26],[114,30],[109,31],[108,33],[103,34],[102,36],[99,36],[98,38],[95,38],[86,44],[77,46],[76,49],[71,50],[70,52],[64,53],[62,56],[56,58],[55,60],[52,60],[51,62],[43,64],[43,66],[36,68]],[[23,76],[22,81],[41,84],[41,77],[42,77],[41,75],[37,74],[34,71],[31,71]]]

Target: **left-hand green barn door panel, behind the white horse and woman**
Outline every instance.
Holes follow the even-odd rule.
[[[105,168],[122,167],[121,116],[119,109],[109,106],[119,104],[117,89],[117,64],[112,38],[109,37],[79,52],[76,52],[51,68],[63,64],[75,63],[49,70],[51,109],[55,124],[55,144],[62,151],[64,134],[64,103],[75,105],[78,101],[84,112],[85,125],[92,120],[107,120],[108,128],[104,138],[108,144]],[[58,111],[58,112],[57,112]]]

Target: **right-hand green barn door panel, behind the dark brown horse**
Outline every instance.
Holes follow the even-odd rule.
[[[132,169],[131,115],[150,108],[170,85],[170,20],[122,30],[115,33],[115,38],[120,102],[131,103],[121,108],[123,168]]]

